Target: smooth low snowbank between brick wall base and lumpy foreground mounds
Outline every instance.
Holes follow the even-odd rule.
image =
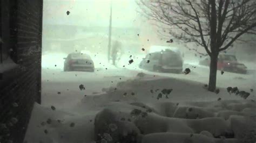
[[[24,142],[91,142],[96,112],[78,115],[35,104]]]

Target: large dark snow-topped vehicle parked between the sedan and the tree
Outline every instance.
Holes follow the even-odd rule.
[[[140,62],[139,68],[167,73],[181,73],[183,71],[183,58],[179,51],[165,49],[146,55]]]

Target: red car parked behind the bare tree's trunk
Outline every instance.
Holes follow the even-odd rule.
[[[210,66],[210,58],[201,60],[199,65]],[[243,63],[239,63],[235,55],[232,54],[219,54],[217,69],[241,74],[247,73],[247,67]]]

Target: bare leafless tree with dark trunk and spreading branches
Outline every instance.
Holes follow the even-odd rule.
[[[208,90],[216,88],[218,54],[242,34],[256,34],[255,0],[138,0],[169,38],[195,42],[210,56]]]

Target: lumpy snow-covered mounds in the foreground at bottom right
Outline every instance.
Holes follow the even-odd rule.
[[[242,105],[252,106],[250,101],[223,101],[222,104],[225,103],[228,108],[228,105],[234,103],[239,106],[239,102]],[[195,108],[195,106],[188,106],[189,104],[200,105],[200,107]],[[210,106],[214,104],[217,109],[210,110]],[[99,141],[103,134],[107,133],[114,142],[139,142],[141,139],[142,142],[169,142],[170,140],[174,142],[238,142],[241,139],[248,140],[247,138],[254,140],[255,128],[248,127],[250,124],[254,125],[254,121],[252,119],[242,120],[250,118],[250,114],[227,110],[224,107],[218,108],[219,104],[219,102],[212,102],[207,106],[204,102],[180,103],[179,108],[184,108],[180,110],[180,115],[181,111],[183,115],[193,110],[201,113],[200,119],[194,116],[192,119],[190,115],[173,118],[178,108],[175,103],[163,102],[146,105],[138,102],[131,104],[112,102],[106,105],[95,118],[95,138]],[[227,112],[228,117],[221,116],[224,112]],[[118,130],[115,132],[110,130],[110,124],[114,124]],[[240,125],[240,127],[235,125]],[[246,131],[240,131],[239,128],[244,128]]]

